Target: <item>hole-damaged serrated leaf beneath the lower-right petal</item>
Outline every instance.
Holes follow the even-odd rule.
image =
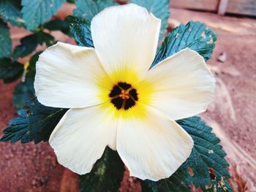
[[[230,174],[227,172],[226,153],[219,145],[219,139],[211,132],[212,129],[197,117],[178,120],[177,123],[194,140],[192,153],[183,165],[183,169],[191,170],[192,176],[188,176],[192,183],[203,191],[210,183],[211,187],[217,185],[217,191],[227,187],[218,187],[218,183],[230,178]]]

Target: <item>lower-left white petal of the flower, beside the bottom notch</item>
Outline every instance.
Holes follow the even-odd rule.
[[[113,114],[102,105],[71,109],[50,135],[50,146],[59,164],[86,174],[107,145],[116,150],[116,126]]]

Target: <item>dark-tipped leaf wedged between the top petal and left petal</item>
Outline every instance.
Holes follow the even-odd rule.
[[[94,47],[89,20],[73,16],[68,16],[66,20],[69,23],[70,32],[79,46]]]

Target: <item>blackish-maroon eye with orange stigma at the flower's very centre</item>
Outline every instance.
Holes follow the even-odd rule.
[[[117,110],[129,110],[138,101],[137,90],[127,82],[118,82],[113,86],[108,96]]]

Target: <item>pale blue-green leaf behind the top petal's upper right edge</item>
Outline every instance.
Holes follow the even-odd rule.
[[[170,18],[170,0],[132,0],[131,3],[146,7],[156,18],[162,20],[159,40],[164,38],[167,32],[168,19]]]

